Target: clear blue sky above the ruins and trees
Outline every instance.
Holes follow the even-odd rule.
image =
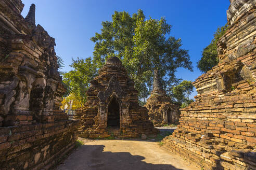
[[[65,61],[66,72],[71,70],[72,58],[93,55],[94,43],[89,39],[100,32],[102,21],[111,21],[115,10],[132,15],[142,9],[147,18],[165,17],[172,25],[171,36],[182,39],[182,48],[189,50],[194,67],[194,72],[179,68],[176,76],[191,81],[201,75],[196,63],[217,27],[226,24],[229,6],[228,0],[23,0],[22,3],[24,17],[30,5],[35,4],[36,24],[56,39],[55,51]],[[191,97],[196,94],[193,92]]]

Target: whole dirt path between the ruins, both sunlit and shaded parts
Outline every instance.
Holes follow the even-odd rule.
[[[74,151],[58,170],[196,170],[182,158],[159,146],[141,140],[87,140]]]

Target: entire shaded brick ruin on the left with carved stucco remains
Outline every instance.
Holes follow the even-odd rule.
[[[0,169],[48,169],[74,147],[78,122],[59,107],[55,40],[23,6],[0,0]]]

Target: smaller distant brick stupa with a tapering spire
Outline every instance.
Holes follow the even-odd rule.
[[[145,107],[149,110],[149,120],[155,126],[178,123],[179,106],[173,104],[171,98],[163,90],[158,70],[154,70],[153,90]]]

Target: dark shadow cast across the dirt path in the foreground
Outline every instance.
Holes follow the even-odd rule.
[[[66,169],[111,169],[111,170],[183,170],[168,164],[150,164],[143,162],[145,159],[139,155],[132,155],[129,152],[104,151],[104,145],[82,145],[68,161],[58,166],[58,170]],[[86,153],[86,154],[85,154]]]

